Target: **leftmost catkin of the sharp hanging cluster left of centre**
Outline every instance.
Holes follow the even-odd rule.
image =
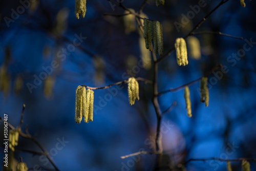
[[[75,109],[75,121],[80,123],[82,120],[82,87],[76,88],[76,109]]]

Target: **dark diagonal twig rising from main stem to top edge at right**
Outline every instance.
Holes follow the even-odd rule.
[[[226,1],[221,1],[214,9],[212,9],[187,35],[185,35],[183,38],[187,38],[189,35],[191,35],[191,33],[193,33],[194,31],[196,31],[204,22],[205,20],[214,12],[216,11],[221,5],[225,4],[226,2],[228,2],[229,0]],[[170,54],[172,54],[172,52],[175,50],[175,47],[173,47],[172,49],[170,49],[165,55],[163,55],[162,57],[160,57],[157,60],[157,63],[162,61],[163,59],[165,59],[167,56],[169,56]]]

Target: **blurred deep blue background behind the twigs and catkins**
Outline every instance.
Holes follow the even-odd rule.
[[[139,82],[140,100],[133,106],[129,105],[127,84],[95,90],[94,121],[77,124],[74,120],[77,86],[102,87],[130,76],[153,78],[152,68],[144,69],[138,64],[142,54],[137,29],[127,33],[123,17],[103,15],[122,14],[124,10],[109,1],[88,1],[86,16],[76,19],[74,1],[31,2],[0,3],[0,66],[8,75],[7,88],[0,92],[1,117],[8,114],[8,121],[18,126],[26,104],[22,130],[28,125],[30,134],[48,150],[60,170],[152,170],[155,155],[120,158],[155,148],[157,122],[151,84]],[[154,1],[148,1],[143,13],[162,23],[167,52],[177,37],[186,35],[219,2],[205,1],[200,12],[179,30],[174,23],[181,23],[181,14],[186,15],[191,11],[190,5],[198,5],[199,1],[170,0],[159,8]],[[123,6],[135,11],[142,3],[122,1]],[[159,63],[159,91],[193,81],[219,63],[227,69],[226,73],[218,70],[209,76],[207,108],[200,102],[200,83],[189,87],[191,118],[186,115],[183,90],[159,96],[162,111],[177,102],[163,116],[161,126],[165,163],[171,168],[190,158],[256,158],[256,2],[245,3],[243,8],[239,1],[227,2],[198,30],[220,31],[243,40],[216,34],[195,35],[201,44],[199,60],[188,58],[189,64],[179,67],[172,53]],[[78,42],[81,44],[74,46]],[[1,135],[2,132],[3,126]],[[63,140],[60,149],[56,144]],[[18,149],[40,151],[30,140],[19,138],[15,158],[22,157],[31,170],[37,170],[37,165],[41,169],[53,168],[44,156]],[[256,170],[255,163],[250,164]],[[241,162],[231,165],[233,170],[241,170]],[[191,161],[185,167],[226,170],[226,162]]]

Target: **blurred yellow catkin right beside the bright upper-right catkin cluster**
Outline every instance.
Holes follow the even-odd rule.
[[[189,36],[187,38],[187,47],[189,56],[192,59],[200,59],[201,58],[201,47],[200,47],[200,41],[195,36]]]

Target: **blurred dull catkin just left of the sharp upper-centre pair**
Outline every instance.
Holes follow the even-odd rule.
[[[134,9],[129,9],[132,12],[135,12]],[[124,32],[126,34],[130,34],[131,32],[136,30],[136,17],[133,14],[130,14],[129,11],[124,11],[123,16],[123,25],[124,25]]]

